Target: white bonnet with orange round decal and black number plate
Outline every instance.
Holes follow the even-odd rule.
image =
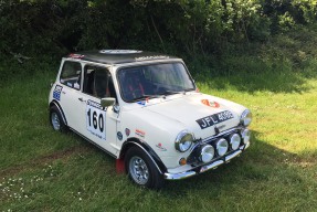
[[[241,107],[225,99],[196,94],[149,104],[144,109],[181,121],[196,138],[204,139],[215,135],[215,127],[223,131],[239,125],[240,115],[236,110],[241,110]]]

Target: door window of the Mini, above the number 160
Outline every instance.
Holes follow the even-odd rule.
[[[86,65],[84,73],[84,93],[97,98],[116,98],[113,78],[106,67]]]

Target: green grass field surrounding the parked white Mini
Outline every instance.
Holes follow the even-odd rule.
[[[158,192],[116,174],[115,159],[78,136],[52,130],[47,94],[55,74],[0,87],[0,211],[316,211],[314,72],[198,78],[201,92],[251,108],[252,146],[226,166]]]

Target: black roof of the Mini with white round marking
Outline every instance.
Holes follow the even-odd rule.
[[[68,59],[80,59],[104,64],[120,64],[141,61],[158,61],[168,59],[179,59],[167,54],[144,52],[138,50],[95,50],[72,53]]]

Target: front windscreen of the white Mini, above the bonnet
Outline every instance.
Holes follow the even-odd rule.
[[[125,102],[194,91],[194,83],[182,63],[125,67],[118,72]]]

